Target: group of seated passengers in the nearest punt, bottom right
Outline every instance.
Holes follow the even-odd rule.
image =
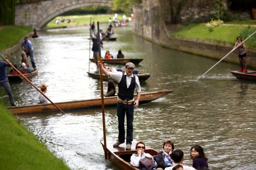
[[[139,141],[136,146],[136,153],[131,155],[130,164],[140,170],[209,170],[207,157],[200,145],[194,145],[190,149],[190,158],[193,160],[192,167],[184,164],[184,152],[181,149],[174,149],[172,140],[164,141],[163,151],[158,152],[155,159],[151,154],[145,153],[145,144]],[[151,167],[144,167],[141,160],[145,157],[151,162]]]

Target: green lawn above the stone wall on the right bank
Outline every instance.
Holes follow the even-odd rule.
[[[250,27],[250,29],[252,28],[256,29],[256,27]],[[241,32],[246,29],[248,29],[248,26],[218,26],[215,27],[212,32],[209,32],[204,24],[197,24],[195,26],[186,27],[181,31],[172,32],[171,37],[216,44],[222,43],[232,46],[236,42],[236,36],[240,35]],[[242,38],[245,39],[247,37]],[[249,40],[251,41],[252,38]],[[250,43],[246,43],[246,46],[251,50],[256,50],[253,44],[250,45]]]

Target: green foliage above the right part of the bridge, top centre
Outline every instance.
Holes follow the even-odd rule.
[[[113,4],[113,10],[121,10],[126,14],[131,14],[133,5],[141,2],[142,0],[113,0],[111,3]]]

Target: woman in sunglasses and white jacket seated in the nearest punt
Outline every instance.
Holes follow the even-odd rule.
[[[153,157],[151,154],[145,153],[145,144],[142,141],[139,141],[136,144],[136,153],[131,155],[131,162],[130,164],[134,167],[139,168],[140,170],[146,170],[145,168],[140,167],[140,160],[143,159],[144,157],[147,157],[151,163],[154,165],[154,168],[151,170],[155,170],[155,168],[158,167],[158,164],[154,161]]]

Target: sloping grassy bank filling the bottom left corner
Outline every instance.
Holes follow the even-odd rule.
[[[69,170],[0,103],[1,170]]]

